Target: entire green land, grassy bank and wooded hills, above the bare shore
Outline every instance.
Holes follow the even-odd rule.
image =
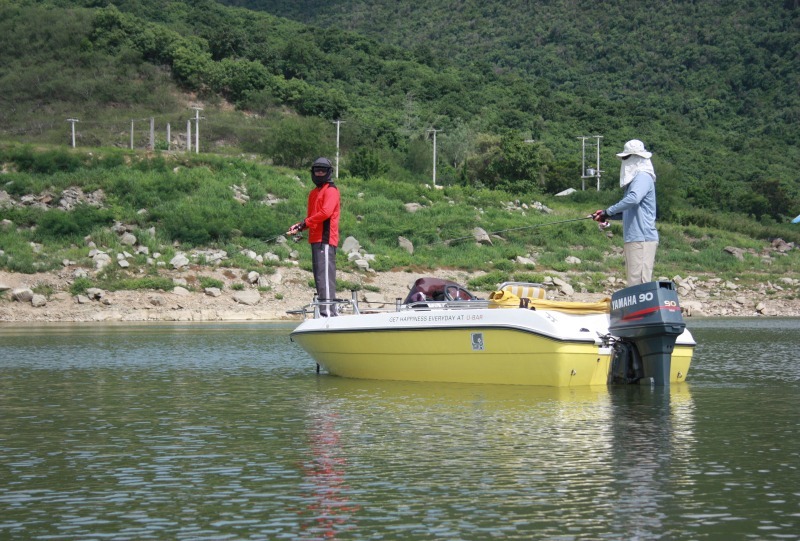
[[[788,224],[800,211],[798,123],[790,121],[800,71],[798,40],[788,41],[797,34],[794,5],[732,10],[738,18],[716,24],[699,17],[711,8],[696,6],[687,35],[705,45],[697,45],[696,62],[676,68],[678,77],[667,73],[676,62],[668,54],[688,53],[666,46],[666,27],[631,34],[613,29],[614,18],[594,4],[517,4],[462,2],[456,12],[439,2],[427,11],[374,3],[374,28],[347,25],[362,34],[336,27],[344,26],[337,13],[358,12],[348,3],[326,3],[339,11],[322,28],[210,0],[0,0],[0,268],[33,273],[86,261],[86,236],[122,251],[116,223],[154,231],[150,248],[163,254],[219,247],[247,267],[235,255],[241,250],[283,249],[267,241],[302,216],[308,164],[334,155],[332,121],[341,120],[342,231],[378,256],[376,270],[481,269],[489,281],[570,272],[599,288],[621,269],[619,235],[599,235],[590,221],[549,223],[616,201],[613,154],[640,137],[656,153],[658,274],[762,281],[796,273],[796,250],[768,266],[762,259],[772,239],[800,242],[800,229]],[[585,17],[568,16],[570,6],[585,8]],[[659,21],[687,28],[688,6],[669,4]],[[396,33],[381,26],[392,19],[382,10],[391,9]],[[529,12],[538,18],[526,19]],[[609,23],[604,36],[619,39],[605,54],[637,58],[638,69],[617,56],[600,62],[599,53],[576,60],[588,52],[577,48],[585,37],[578,25],[594,16]],[[473,19],[484,37],[459,46],[454,36]],[[718,41],[725,21],[739,25],[727,33],[730,43]],[[403,40],[423,23],[439,31],[418,33],[413,46]],[[674,32],[673,45],[688,39]],[[536,53],[526,53],[537,39]],[[745,87],[731,75],[736,66]],[[195,115],[199,154],[185,152]],[[432,127],[440,130],[443,190],[426,187]],[[590,184],[554,197],[581,187],[576,136],[591,134],[603,135],[603,190]],[[244,203],[233,197],[242,188]],[[74,189],[105,199],[55,210]],[[272,199],[278,203],[263,203]],[[534,202],[553,213],[525,208]],[[423,210],[408,213],[406,203]],[[512,232],[493,247],[444,242],[476,224]],[[413,256],[398,248],[398,236],[412,240]],[[746,250],[744,261],[721,255],[726,246]],[[566,264],[567,255],[582,263]],[[536,268],[520,265],[520,256],[535,256]],[[136,272],[156,271],[139,259]],[[116,269],[109,280],[124,274]]]

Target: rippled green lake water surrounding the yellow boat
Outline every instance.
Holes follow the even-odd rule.
[[[800,539],[800,320],[685,384],[317,375],[278,324],[0,326],[0,539]]]

